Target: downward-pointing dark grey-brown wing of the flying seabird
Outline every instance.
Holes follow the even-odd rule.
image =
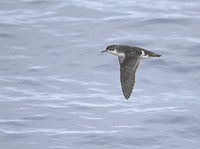
[[[124,97],[128,99],[135,84],[135,72],[139,65],[140,58],[137,56],[125,57],[120,63],[120,81]]]

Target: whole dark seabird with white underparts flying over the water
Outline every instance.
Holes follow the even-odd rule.
[[[135,84],[135,73],[141,59],[160,57],[160,54],[131,45],[109,45],[101,53],[118,56],[120,64],[120,82],[124,97],[128,100]]]

